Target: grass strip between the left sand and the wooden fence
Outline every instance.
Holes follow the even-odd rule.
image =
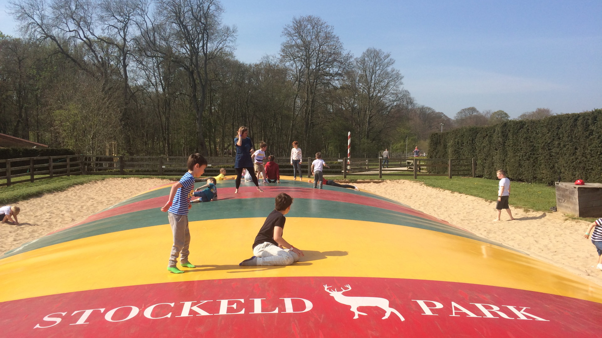
[[[74,185],[80,185],[97,180],[111,178],[157,178],[157,179],[179,179],[181,176],[142,176],[142,175],[76,175],[61,176],[52,179],[39,180],[36,182],[17,183],[11,186],[0,187],[0,204],[7,205],[17,201],[26,200],[31,197],[46,194],[47,192],[63,191]],[[20,178],[20,177],[19,177]]]

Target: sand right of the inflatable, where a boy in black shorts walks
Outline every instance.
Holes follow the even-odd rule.
[[[431,188],[420,182],[395,180],[358,184],[358,187],[400,201],[602,285],[602,270],[595,268],[596,249],[589,239],[583,238],[588,227],[584,221],[510,207],[515,221],[509,221],[506,210],[502,210],[501,221],[494,222],[497,211],[493,202]]]

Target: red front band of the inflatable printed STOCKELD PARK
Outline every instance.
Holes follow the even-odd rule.
[[[453,333],[453,337],[585,338],[599,335],[601,316],[602,304],[547,293],[359,277],[186,281],[0,303],[2,327],[20,323],[16,330],[4,331],[3,337],[450,337]]]

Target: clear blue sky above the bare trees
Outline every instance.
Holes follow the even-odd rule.
[[[391,52],[418,103],[453,117],[462,108],[517,117],[602,108],[602,1],[222,0],[238,28],[237,58],[278,54],[282,28],[315,15],[346,49]],[[16,35],[0,0],[0,31]]]

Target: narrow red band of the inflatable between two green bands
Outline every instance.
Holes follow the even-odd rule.
[[[417,216],[420,218],[425,218],[427,220],[432,220],[432,221],[436,221],[438,223],[445,224],[447,226],[455,227],[456,229],[468,231],[462,227],[454,226],[453,224],[450,224],[447,221],[440,220],[439,218],[424,214],[423,212],[411,209],[409,207],[400,206],[399,204],[396,204],[396,203],[383,201],[378,198],[372,198],[372,197],[356,195],[356,194],[341,194],[341,192],[329,191],[329,190],[315,191],[312,188],[288,189],[288,188],[279,187],[279,186],[273,186],[273,187],[265,186],[263,189],[264,189],[264,192],[259,193],[259,192],[257,192],[255,187],[243,186],[239,189],[239,194],[234,194],[234,188],[228,188],[227,191],[225,191],[226,188],[223,188],[223,190],[222,189],[219,190],[218,195],[219,195],[219,198],[257,198],[257,197],[274,198],[274,197],[276,197],[276,195],[280,194],[281,192],[286,192],[287,194],[291,195],[291,197],[293,197],[293,198],[311,198],[314,200],[338,201],[338,202],[345,202],[345,203],[362,204],[365,206],[380,207],[380,208],[384,208],[384,209],[388,209],[388,210],[402,212],[403,214],[408,214],[408,215]],[[244,194],[244,193],[252,193],[252,192],[256,192],[256,194],[250,194],[250,195]],[[193,200],[194,199],[197,199],[197,197],[194,197]],[[64,229],[69,229],[70,227],[79,226],[80,224],[85,224],[85,223],[90,223],[92,221],[102,220],[103,218],[107,218],[107,217],[123,215],[123,214],[127,214],[128,212],[160,208],[165,205],[166,200],[167,200],[166,196],[160,196],[160,197],[149,198],[148,200],[137,201],[134,203],[126,204],[124,206],[114,207],[113,209],[105,210],[103,212],[99,212],[98,214],[91,215],[90,217],[86,218],[85,220],[79,221],[78,223],[72,224],[68,227],[64,227],[63,229],[55,230],[54,232],[48,233],[47,235],[51,235],[52,233],[60,232],[61,230],[64,230]]]

